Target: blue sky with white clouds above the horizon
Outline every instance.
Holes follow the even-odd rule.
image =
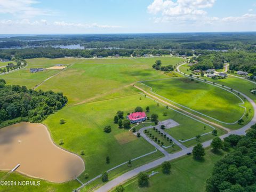
[[[1,34],[256,31],[255,0],[0,0]]]

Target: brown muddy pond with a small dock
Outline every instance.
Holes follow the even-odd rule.
[[[83,159],[54,145],[47,127],[18,123],[0,129],[0,170],[12,170],[51,182],[75,179],[84,171]]]

